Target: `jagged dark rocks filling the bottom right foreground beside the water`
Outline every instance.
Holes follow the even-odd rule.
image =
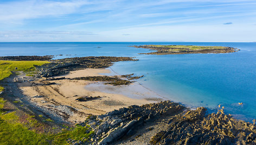
[[[256,143],[255,124],[235,120],[222,109],[212,114],[206,114],[206,111],[203,107],[188,110],[181,104],[164,101],[89,116],[78,125],[89,125],[94,130],[88,144]],[[159,123],[163,125],[156,126]],[[153,134],[147,141],[145,135],[152,130]],[[80,142],[69,140],[71,144]]]

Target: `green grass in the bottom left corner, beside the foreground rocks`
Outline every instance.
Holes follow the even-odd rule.
[[[94,131],[88,131],[89,126],[63,129],[59,134],[36,133],[30,129],[42,124],[35,120],[35,116],[28,116],[26,123],[21,123],[15,111],[4,114],[5,102],[0,98],[0,144],[67,144],[67,139],[86,142],[94,134]]]

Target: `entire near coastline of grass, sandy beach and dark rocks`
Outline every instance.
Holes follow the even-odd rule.
[[[0,61],[3,144],[256,143],[255,120],[235,120],[221,106],[207,114],[203,107],[191,110],[156,94],[152,97],[136,84],[143,76],[102,75],[109,73],[105,68],[113,62],[137,61],[131,57],[1,59],[5,60]],[[99,90],[88,90],[88,85]],[[131,95],[145,94],[131,98],[120,94],[122,88]]]

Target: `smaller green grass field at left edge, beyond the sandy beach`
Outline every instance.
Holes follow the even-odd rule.
[[[42,65],[48,61],[0,61],[0,81],[11,75],[11,71],[34,71],[34,65]],[[17,69],[15,69],[17,68]],[[0,92],[4,88],[0,86]]]

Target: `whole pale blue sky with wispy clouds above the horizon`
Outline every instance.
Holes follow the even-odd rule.
[[[0,1],[0,42],[255,42],[256,1]]]

